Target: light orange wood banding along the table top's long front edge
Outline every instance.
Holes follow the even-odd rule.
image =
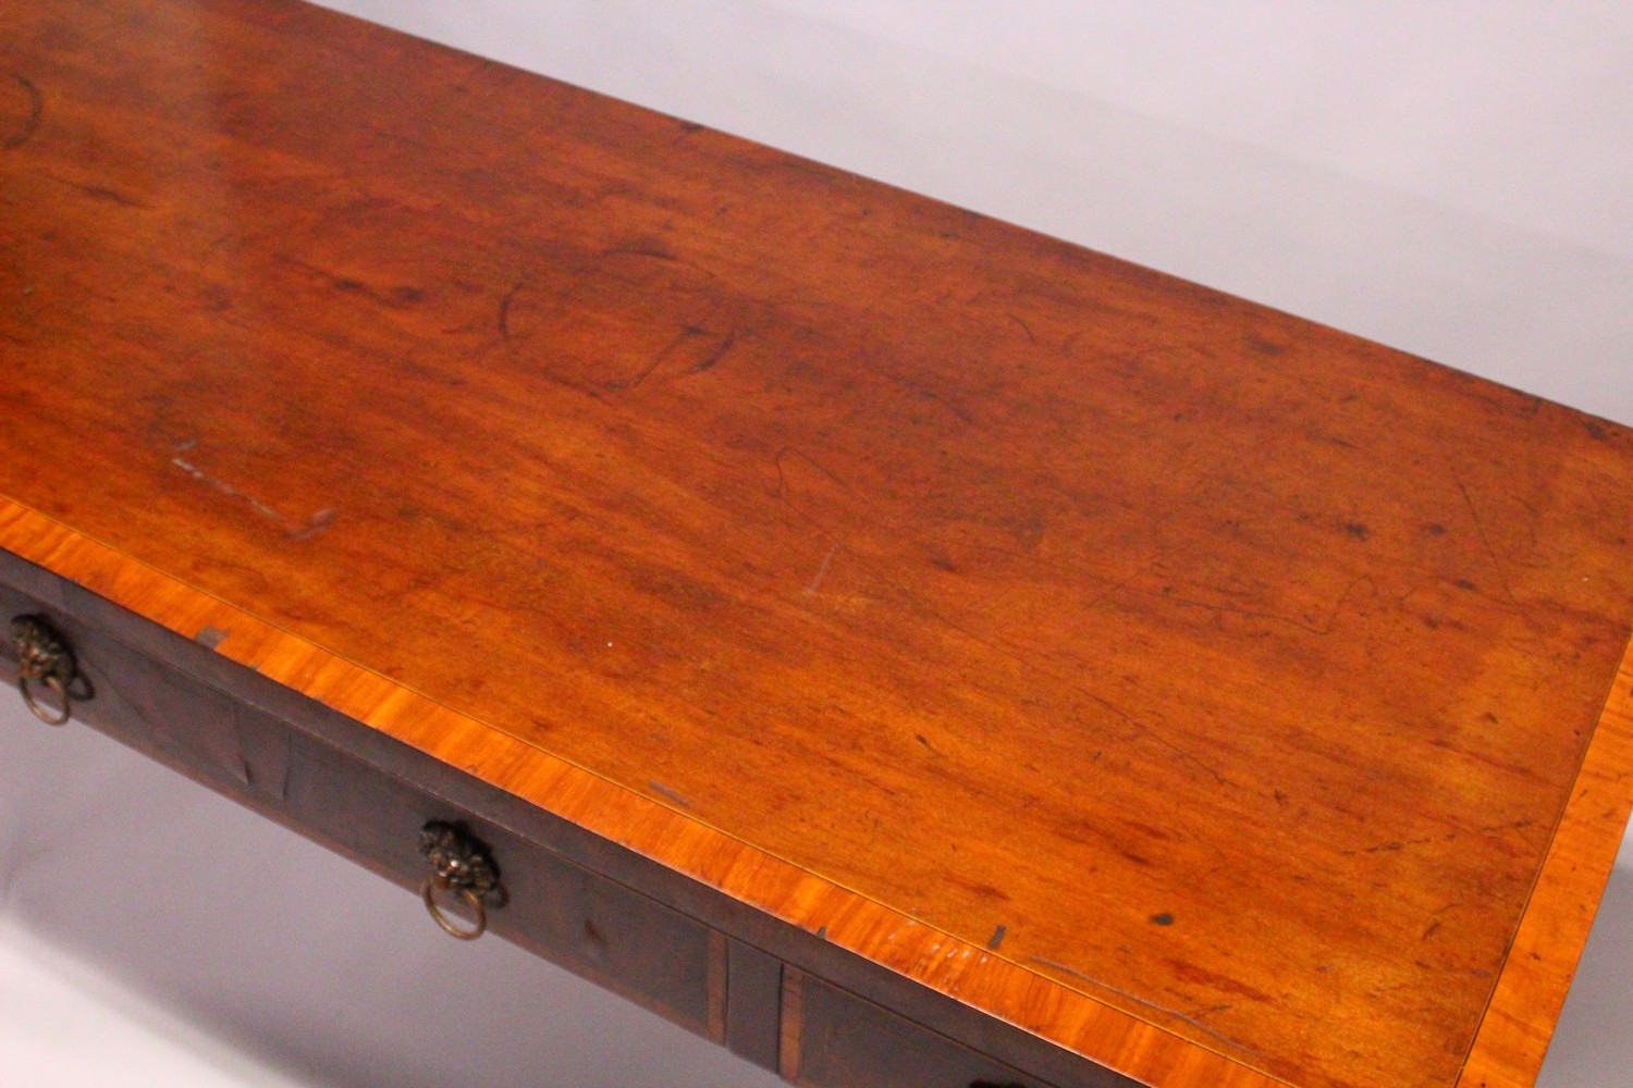
[[[960,941],[338,657],[0,496],[0,548],[603,838],[1091,1062],[1153,1085],[1287,1081]]]

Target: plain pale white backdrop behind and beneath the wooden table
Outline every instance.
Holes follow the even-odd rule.
[[[1633,5],[331,7],[1633,424]],[[1623,853],[1550,1088],[1633,1083]],[[47,1088],[772,1083],[11,703],[0,1068]]]

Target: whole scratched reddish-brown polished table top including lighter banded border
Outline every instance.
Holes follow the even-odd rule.
[[[1623,427],[294,3],[0,11],[0,232],[8,550],[1143,1080],[1540,1064]]]

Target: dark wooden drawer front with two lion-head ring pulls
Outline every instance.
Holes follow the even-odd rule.
[[[723,1041],[727,946],[709,927],[0,584],[0,620],[16,615],[44,615],[72,648],[77,687],[88,687],[88,698],[73,705],[75,721],[407,887],[426,876],[425,822],[464,824],[492,850],[509,896],[492,912],[492,930]],[[10,638],[0,652],[15,662]],[[13,680],[15,666],[3,674]],[[429,917],[425,925],[434,931]]]

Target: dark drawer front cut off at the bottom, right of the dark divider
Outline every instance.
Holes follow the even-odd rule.
[[[782,975],[781,1072],[808,1088],[1048,1088],[792,967]]]

